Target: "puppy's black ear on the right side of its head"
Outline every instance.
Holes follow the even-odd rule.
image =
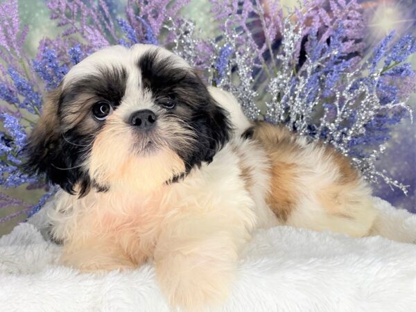
[[[207,107],[207,129],[206,135],[209,137],[209,147],[205,154],[205,162],[211,162],[214,155],[229,140],[232,127],[229,121],[229,113],[209,96]]]

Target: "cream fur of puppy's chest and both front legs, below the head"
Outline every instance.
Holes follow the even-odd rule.
[[[237,146],[259,168],[251,191],[241,179]],[[211,164],[144,196],[120,190],[78,199],[61,191],[50,218],[53,236],[65,241],[62,261],[108,270],[151,259],[171,304],[196,309],[222,302],[253,229],[277,224],[263,200],[267,166],[256,144],[236,138]]]

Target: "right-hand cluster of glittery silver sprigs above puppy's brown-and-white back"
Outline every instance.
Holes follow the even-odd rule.
[[[312,137],[314,140],[321,139],[326,144],[331,144],[343,155],[350,156],[350,142],[354,137],[365,134],[365,124],[372,121],[379,112],[399,108],[407,110],[411,118],[412,112],[406,104],[408,98],[399,103],[382,105],[376,93],[376,88],[370,88],[363,82],[357,82],[357,77],[361,77],[361,71],[366,67],[365,64],[357,67],[354,71],[345,73],[343,78],[345,87],[337,91],[335,98],[333,98],[332,104],[335,107],[335,112],[330,113],[327,108],[317,110],[317,108],[322,107],[322,89],[316,90],[318,96],[313,98],[313,102],[306,102],[307,93],[311,90],[305,89],[305,87],[312,73],[324,63],[325,58],[329,58],[332,53],[336,54],[339,51],[333,51],[314,62],[306,57],[306,63],[302,66],[301,72],[295,73],[293,71],[293,54],[301,40],[302,28],[296,29],[288,19],[285,20],[284,24],[282,53],[276,55],[281,67],[279,74],[270,79],[268,84],[268,92],[272,96],[272,100],[266,103],[266,120],[272,123],[284,123],[289,129],[296,129],[300,135]],[[381,72],[382,69],[379,69],[369,75],[368,78],[374,82],[374,85],[379,82]],[[296,84],[292,83],[294,76],[298,78]],[[358,87],[354,89],[353,85],[357,83]],[[291,92],[288,92],[288,90],[291,90]],[[329,116],[329,114],[332,116]],[[345,121],[351,119],[352,116],[357,116],[354,122],[346,123]],[[309,130],[311,125],[315,125],[317,129],[313,135]],[[326,129],[329,130],[331,135],[323,133],[323,130]],[[381,144],[370,150],[367,157],[351,157],[352,164],[361,171],[366,180],[371,182],[383,180],[390,187],[397,187],[407,193],[408,186],[392,179],[385,171],[379,171],[376,168],[376,160],[379,159],[384,150],[385,144]]]

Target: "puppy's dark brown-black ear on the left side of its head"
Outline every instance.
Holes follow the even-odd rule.
[[[62,88],[58,87],[46,96],[42,115],[28,137],[23,155],[23,169],[31,175],[46,175],[46,180],[58,184],[64,191],[74,194],[74,186],[80,182],[80,196],[89,189],[89,177],[81,171],[73,155],[73,147],[64,139],[59,118]]]

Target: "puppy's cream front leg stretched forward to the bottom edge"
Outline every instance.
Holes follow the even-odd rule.
[[[227,213],[187,214],[167,225],[155,250],[156,273],[171,306],[200,311],[224,302],[248,228]],[[225,220],[226,219],[226,220]]]

